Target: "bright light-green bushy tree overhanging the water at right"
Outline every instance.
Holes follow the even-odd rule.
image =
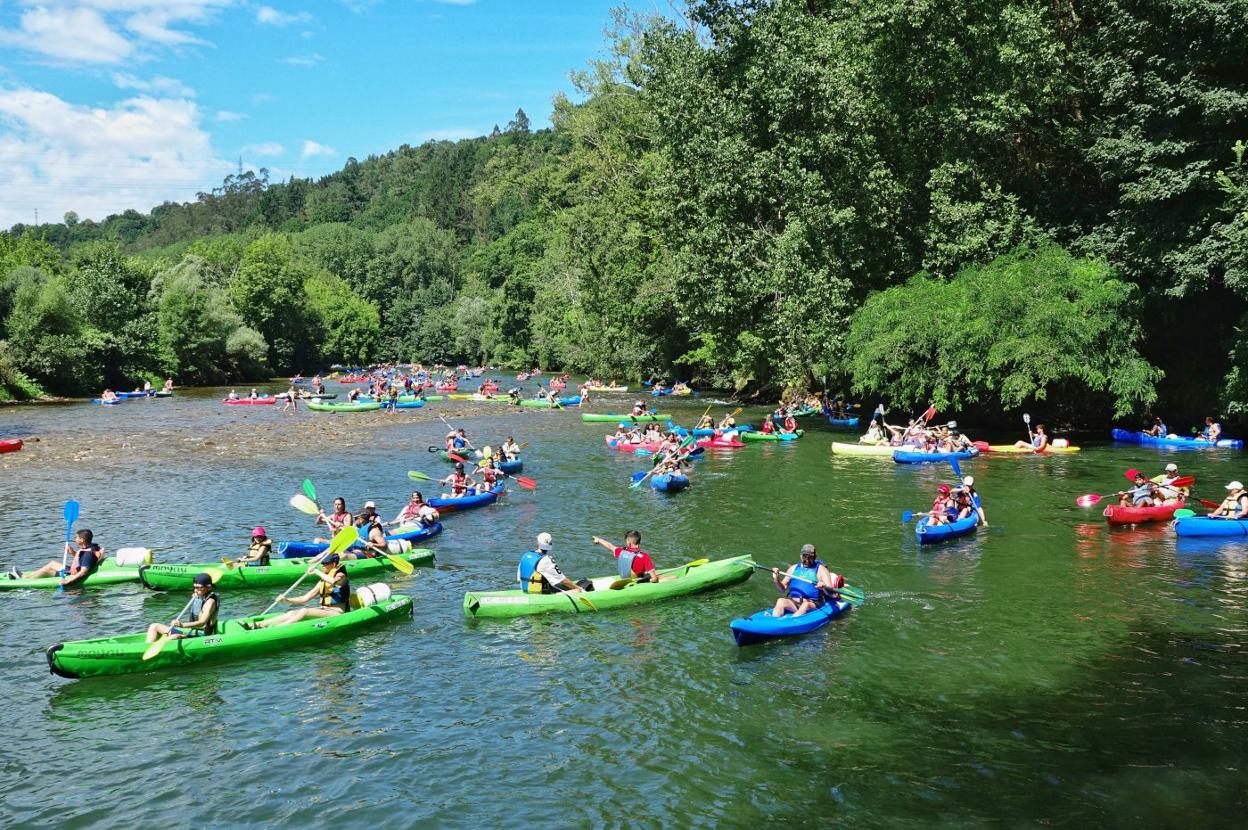
[[[846,347],[855,392],[934,403],[1116,416],[1153,403],[1161,372],[1138,352],[1138,293],[1104,262],[1056,245],[946,282],[927,273],[871,296]]]

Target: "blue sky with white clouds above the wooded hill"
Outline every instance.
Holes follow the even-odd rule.
[[[549,126],[620,0],[0,0],[0,227]],[[654,0],[634,6],[655,11]]]

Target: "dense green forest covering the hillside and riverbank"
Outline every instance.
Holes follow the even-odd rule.
[[[619,12],[550,130],[11,228],[0,382],[421,359],[1248,411],[1248,0],[685,14]]]

